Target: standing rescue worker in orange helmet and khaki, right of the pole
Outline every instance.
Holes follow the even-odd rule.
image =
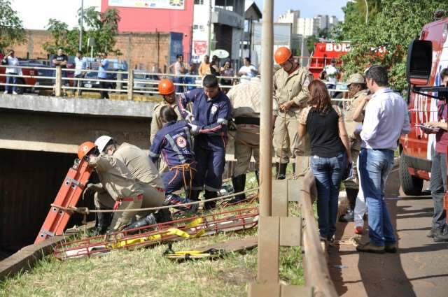
[[[309,138],[297,143],[297,117],[307,106],[308,71],[293,58],[289,48],[278,48],[274,54],[276,64],[281,68],[274,73],[274,99],[279,111],[274,122],[274,150],[279,158],[277,178],[286,178],[286,167],[290,159],[298,158],[296,175],[302,176],[309,170]],[[277,166],[277,165],[276,165]],[[293,164],[295,168],[295,164]]]

